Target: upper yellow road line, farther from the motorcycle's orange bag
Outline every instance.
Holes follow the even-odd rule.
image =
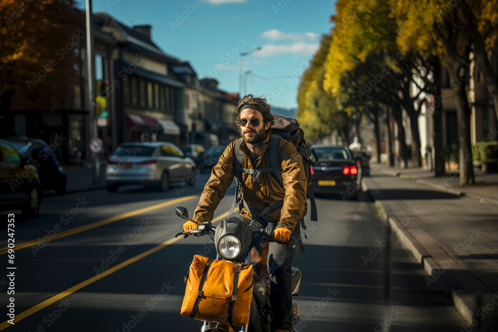
[[[71,228],[71,229],[59,232],[59,233],[55,234],[53,237],[51,237],[50,235],[44,235],[43,238],[46,238],[48,236],[48,239],[46,241],[43,240],[43,238],[42,238],[42,241],[40,241],[39,239],[36,239],[36,240],[27,241],[27,242],[22,242],[22,243],[17,244],[13,249],[14,250],[20,250],[20,249],[24,249],[24,248],[27,248],[27,247],[30,247],[30,246],[33,246],[33,245],[36,245],[36,244],[50,242],[50,241],[53,241],[53,240],[55,240],[57,238],[61,238],[61,237],[73,235],[73,234],[76,234],[76,233],[79,233],[79,232],[82,232],[82,231],[85,231],[85,230],[88,230],[88,229],[92,229],[92,228],[95,228],[95,227],[99,227],[99,226],[102,226],[102,225],[105,225],[105,224],[108,224],[108,223],[111,223],[111,222],[114,222],[114,221],[119,221],[119,220],[122,220],[122,219],[125,219],[125,218],[128,218],[128,217],[136,216],[136,215],[139,215],[141,213],[146,213],[146,212],[149,212],[149,211],[153,211],[153,210],[157,210],[157,209],[160,209],[160,208],[164,208],[164,207],[167,207],[167,206],[170,206],[170,205],[173,205],[173,204],[176,204],[176,203],[180,203],[180,202],[183,202],[183,201],[188,201],[188,200],[191,200],[191,199],[196,198],[196,197],[197,196],[181,197],[181,198],[177,198],[176,200],[173,200],[173,201],[159,203],[159,204],[156,204],[156,205],[152,205],[150,207],[146,207],[146,208],[142,208],[142,209],[138,209],[138,210],[126,212],[126,213],[118,215],[118,216],[107,218],[107,219],[104,219],[104,220],[101,220],[101,221],[95,221],[95,222],[92,222],[92,223],[89,223],[89,224],[86,224],[86,225],[83,225],[83,226],[79,226],[79,227],[75,227],[75,228]],[[7,251],[8,251],[8,247],[1,248],[0,249],[0,255],[3,255],[5,253],[7,253]]]

